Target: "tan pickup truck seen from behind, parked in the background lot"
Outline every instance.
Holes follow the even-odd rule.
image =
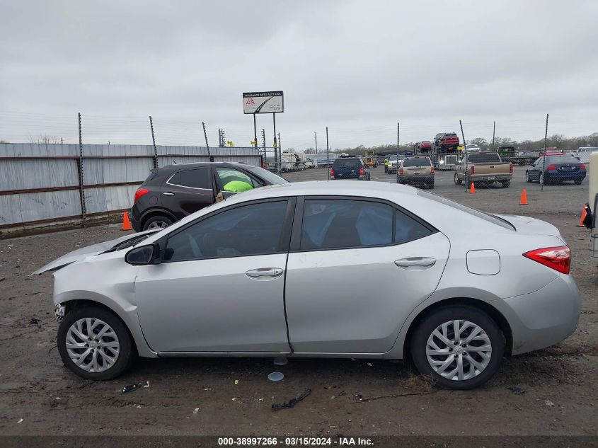
[[[503,162],[498,153],[476,152],[466,154],[461,163],[455,168],[455,185],[461,185],[465,180],[467,188],[471,183],[502,183],[503,188],[511,185],[513,164]]]

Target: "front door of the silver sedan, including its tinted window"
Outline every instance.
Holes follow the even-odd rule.
[[[141,266],[135,281],[152,350],[289,352],[283,294],[293,202],[234,205],[168,236],[163,262]]]

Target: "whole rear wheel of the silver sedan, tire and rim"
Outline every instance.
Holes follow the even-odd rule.
[[[449,306],[426,316],[411,338],[421,374],[447,389],[473,389],[498,370],[505,340],[490,316],[469,306]]]

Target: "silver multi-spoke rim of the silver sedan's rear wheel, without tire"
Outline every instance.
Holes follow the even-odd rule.
[[[440,376],[453,381],[481,374],[492,357],[492,344],[483,328],[470,321],[448,321],[427,338],[426,357]]]

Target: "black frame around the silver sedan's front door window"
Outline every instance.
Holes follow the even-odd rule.
[[[229,255],[226,257],[203,257],[203,258],[185,258],[185,260],[164,260],[164,255],[166,254],[166,249],[168,248],[168,240],[171,236],[176,236],[181,232],[185,231],[191,226],[195,224],[199,224],[200,222],[205,221],[205,219],[209,219],[212,217],[217,216],[218,214],[229,212],[231,210],[246,207],[248,205],[255,205],[255,204],[265,204],[268,202],[287,202],[287,208],[284,210],[284,217],[282,222],[282,231],[280,232],[280,240],[278,241],[278,250],[274,252],[264,252],[264,253],[252,253],[251,255]],[[295,196],[281,196],[281,197],[268,197],[267,199],[258,199],[252,200],[247,202],[241,202],[239,204],[231,205],[230,207],[226,207],[223,209],[215,210],[212,213],[206,214],[200,218],[195,219],[194,221],[185,224],[182,227],[172,231],[171,233],[167,234],[164,237],[163,248],[161,248],[161,263],[183,263],[187,261],[203,261],[203,260],[222,260],[224,258],[240,258],[240,257],[255,257],[259,255],[279,255],[281,253],[289,253],[289,244],[291,240],[291,231],[292,231],[292,223],[293,223],[293,216],[296,208],[297,197]]]

